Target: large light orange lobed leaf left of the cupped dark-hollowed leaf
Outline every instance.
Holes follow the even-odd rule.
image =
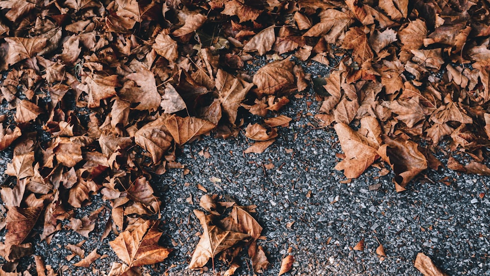
[[[334,128],[345,153],[345,158],[335,169],[343,170],[347,178],[357,178],[379,157],[376,151],[381,144],[381,126],[376,118],[364,117],[358,131],[343,123],[336,124]]]

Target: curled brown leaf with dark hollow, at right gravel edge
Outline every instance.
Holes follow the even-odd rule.
[[[413,141],[401,138],[393,140],[387,136],[383,141],[385,144],[378,149],[378,154],[390,164],[395,173],[396,191],[404,191],[410,180],[427,169],[427,159],[418,151],[418,144]]]

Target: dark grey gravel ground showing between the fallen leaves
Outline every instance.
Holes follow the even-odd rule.
[[[309,71],[323,74],[315,68]],[[315,113],[316,102],[311,91],[307,94],[282,112],[293,118],[291,126],[280,129],[276,142],[264,153],[244,154],[251,141],[243,133],[236,140],[204,137],[178,153],[177,161],[190,170],[189,174],[175,169],[151,179],[164,202],[163,244],[174,251],[165,262],[144,271],[150,275],[213,275],[211,270],[201,273],[186,268],[199,240],[196,233],[202,231],[193,214],[204,194],[197,188],[200,184],[208,193],[258,206],[255,217],[268,238],[261,244],[271,262],[263,275],[278,274],[281,259],[290,247],[296,259],[291,275],[421,275],[414,268],[418,252],[429,255],[449,275],[490,275],[490,201],[489,196],[479,197],[488,193],[489,177],[463,176],[447,169],[429,171],[416,178],[407,191],[396,193],[393,175],[380,177],[379,170],[371,168],[359,179],[342,183],[342,172],[333,169],[340,161],[335,153],[342,152],[335,131],[308,125],[313,119],[307,113]],[[200,155],[200,151],[209,152],[209,156]],[[0,171],[8,157],[6,153],[0,155]],[[274,168],[266,170],[264,166],[270,163]],[[215,184],[211,177],[222,181]],[[442,178],[446,181],[441,182]],[[379,189],[370,191],[376,184]],[[187,200],[191,196],[193,204]],[[76,216],[81,218],[108,205],[100,196],[92,201]],[[99,217],[88,239],[62,229],[50,245],[38,242],[36,251],[55,270],[70,267],[61,275],[95,275],[96,270],[103,275],[101,272],[108,272],[111,263],[118,260],[108,245],[115,238],[113,234],[98,242],[108,217],[108,212]],[[365,250],[353,251],[351,248],[362,238]],[[91,268],[73,267],[79,258],[67,261],[70,252],[63,245],[82,240],[87,240],[82,246],[86,255],[97,248],[99,254],[108,256],[95,261]],[[388,255],[384,260],[375,253],[378,240]],[[32,262],[33,258],[27,258],[21,266]],[[253,275],[246,254],[241,265],[236,275]],[[217,262],[216,272],[224,270]]]

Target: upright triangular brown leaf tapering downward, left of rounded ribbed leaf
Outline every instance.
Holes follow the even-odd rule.
[[[235,123],[238,107],[252,86],[252,83],[242,81],[221,69],[218,70],[216,74],[216,89],[220,95],[218,99],[223,113],[231,124]]]

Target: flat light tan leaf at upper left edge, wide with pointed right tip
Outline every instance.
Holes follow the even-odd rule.
[[[48,39],[6,37],[5,41],[8,42],[9,46],[5,62],[8,65],[13,65],[21,60],[33,57],[36,53],[42,51]]]

